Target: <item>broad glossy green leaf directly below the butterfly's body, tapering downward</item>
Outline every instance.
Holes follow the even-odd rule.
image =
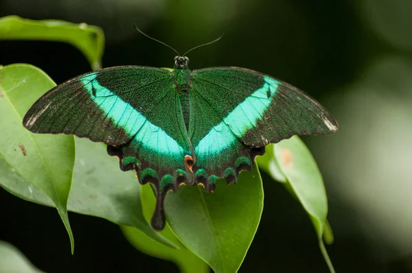
[[[180,187],[165,200],[169,224],[183,244],[215,272],[237,272],[251,245],[263,210],[258,166],[243,171],[238,185],[219,180],[214,193]]]

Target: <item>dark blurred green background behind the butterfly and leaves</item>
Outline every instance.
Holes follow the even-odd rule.
[[[339,121],[329,137],[306,137],[325,180],[328,246],[336,272],[412,272],[412,1],[410,0],[0,0],[0,16],[98,25],[104,67],[246,67],[293,84]],[[26,62],[57,83],[90,71],[70,45],[1,41],[0,63]],[[262,174],[260,228],[240,272],[328,272],[310,219],[283,186]],[[0,239],[46,272],[178,272],[135,250],[117,226],[70,213],[76,252],[55,209],[0,189]],[[201,236],[201,235],[199,235]]]

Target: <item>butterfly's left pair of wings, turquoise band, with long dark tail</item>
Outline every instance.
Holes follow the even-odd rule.
[[[140,182],[157,188],[152,226],[158,229],[165,224],[165,193],[190,174],[185,156],[192,146],[173,75],[166,69],[113,67],[80,75],[38,99],[23,125],[32,132],[106,143],[122,170],[135,169]]]

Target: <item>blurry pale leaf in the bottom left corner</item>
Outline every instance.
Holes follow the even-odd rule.
[[[0,241],[0,272],[41,273],[15,246]]]

